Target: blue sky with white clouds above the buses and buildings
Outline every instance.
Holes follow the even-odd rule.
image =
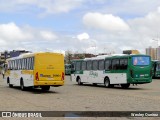
[[[0,51],[122,53],[160,43],[159,0],[0,0]]]

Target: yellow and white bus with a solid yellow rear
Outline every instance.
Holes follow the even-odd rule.
[[[26,53],[7,59],[4,79],[9,87],[20,86],[47,91],[64,85],[64,56],[60,53]]]

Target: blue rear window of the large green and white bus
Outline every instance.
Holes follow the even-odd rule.
[[[135,66],[149,65],[150,58],[148,56],[135,56],[132,57],[132,64]]]

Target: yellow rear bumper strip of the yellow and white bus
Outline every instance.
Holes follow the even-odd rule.
[[[35,81],[34,86],[62,86],[64,81]]]

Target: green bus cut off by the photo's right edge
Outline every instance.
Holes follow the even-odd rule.
[[[160,77],[160,61],[153,60],[152,61],[152,78]]]

